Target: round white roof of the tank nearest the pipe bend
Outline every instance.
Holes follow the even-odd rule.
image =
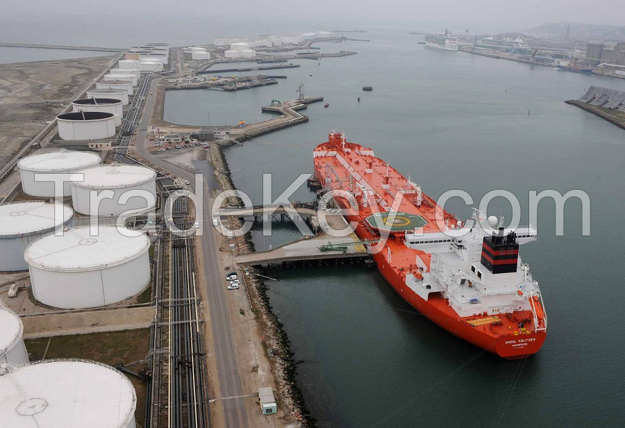
[[[76,174],[83,174],[83,180]],[[101,165],[76,172],[69,181],[83,188],[119,188],[138,186],[156,179],[156,171],[138,165]]]

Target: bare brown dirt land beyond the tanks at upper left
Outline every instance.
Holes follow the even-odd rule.
[[[0,65],[0,165],[87,90],[117,56]]]

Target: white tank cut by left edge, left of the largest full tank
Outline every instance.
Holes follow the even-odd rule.
[[[27,270],[24,249],[63,229],[73,218],[74,210],[63,204],[36,201],[0,205],[0,272]]]

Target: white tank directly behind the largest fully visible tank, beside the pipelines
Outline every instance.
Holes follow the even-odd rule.
[[[156,203],[156,172],[146,167],[102,165],[72,174],[69,179],[74,210],[85,215],[110,217],[134,209],[149,211]],[[92,190],[97,192],[102,190],[113,191],[110,199],[101,199],[96,212],[92,212],[90,206],[90,192]],[[126,195],[126,192],[131,190],[147,190],[154,199],[148,201],[149,195],[143,197],[141,195],[132,196],[130,193]],[[103,197],[105,194],[101,196]],[[124,205],[119,203],[120,197],[122,197],[122,202],[124,198],[130,197],[130,199]]]

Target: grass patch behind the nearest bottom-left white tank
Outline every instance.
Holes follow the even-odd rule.
[[[42,359],[50,341],[46,359],[76,358],[99,361],[108,365],[128,365],[145,358],[150,347],[150,329],[107,331],[92,334],[54,336],[53,338],[26,339],[26,349],[31,361]],[[128,369],[138,372],[143,363],[131,365]],[[128,379],[135,386],[137,410],[135,419],[141,425],[145,412],[146,386],[144,381],[134,376]]]

